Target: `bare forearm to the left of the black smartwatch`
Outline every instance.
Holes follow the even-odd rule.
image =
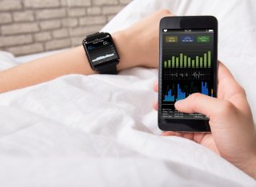
[[[90,69],[86,69],[86,57],[82,57],[81,47],[2,71],[0,74],[0,92],[36,85],[72,73],[90,73]]]

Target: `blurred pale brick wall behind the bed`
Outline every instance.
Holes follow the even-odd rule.
[[[16,56],[81,45],[131,0],[0,0],[0,50]]]

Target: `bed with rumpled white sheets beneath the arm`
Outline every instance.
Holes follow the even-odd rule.
[[[102,30],[122,30],[162,8],[218,18],[218,58],[245,88],[255,118],[256,3],[134,0]],[[57,52],[2,51],[0,70]],[[256,186],[202,145],[159,136],[157,79],[158,70],[138,67],[118,78],[72,74],[0,94],[0,185]]]

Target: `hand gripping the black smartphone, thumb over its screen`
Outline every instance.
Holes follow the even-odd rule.
[[[154,85],[158,91],[158,84]],[[210,118],[211,133],[178,133],[163,136],[185,137],[218,153],[220,156],[256,178],[256,133],[246,92],[230,71],[218,63],[218,98],[191,94],[177,101],[175,108],[183,113],[203,113]],[[158,103],[154,103],[158,109]]]

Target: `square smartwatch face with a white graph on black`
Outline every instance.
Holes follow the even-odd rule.
[[[88,57],[90,58],[90,64],[93,67],[118,61],[119,59],[110,34],[106,34],[102,38],[95,38],[89,42],[85,41],[84,44]]]

